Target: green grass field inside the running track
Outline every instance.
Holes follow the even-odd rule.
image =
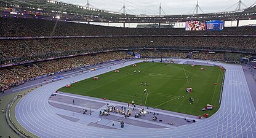
[[[204,67],[204,71],[201,71]],[[140,73],[134,73],[140,70]],[[214,105],[214,110],[206,113],[213,115],[219,109],[218,100],[223,79],[223,71],[218,67],[196,66],[164,63],[138,63],[94,78],[73,83],[71,88],[60,88],[58,91],[80,94],[95,98],[106,98],[113,101],[132,102],[148,107],[186,113],[190,115],[203,115],[201,111],[207,104]],[[189,75],[188,80],[185,74]],[[147,82],[148,86],[142,86]],[[217,85],[214,85],[217,83]],[[193,88],[192,93],[186,93],[187,87]],[[148,90],[143,94],[144,89]],[[194,99],[190,104],[189,98]]]

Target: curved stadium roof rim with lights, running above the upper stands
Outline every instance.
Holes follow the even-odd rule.
[[[53,0],[0,0],[1,7],[26,14],[57,17],[67,20],[101,22],[172,22],[186,20],[256,19],[256,3],[245,10],[187,15],[130,15]]]

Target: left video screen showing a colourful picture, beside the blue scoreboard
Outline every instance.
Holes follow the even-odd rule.
[[[206,30],[204,21],[186,21],[186,31],[201,31]]]

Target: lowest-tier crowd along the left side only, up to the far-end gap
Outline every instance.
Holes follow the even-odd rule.
[[[90,66],[93,64],[105,63],[106,61],[132,57],[134,56],[125,52],[95,53],[93,55],[82,55],[50,61],[41,61],[34,64],[0,68],[0,88],[17,86],[24,81],[33,80],[42,75],[47,76],[54,73],[78,69],[82,66]]]

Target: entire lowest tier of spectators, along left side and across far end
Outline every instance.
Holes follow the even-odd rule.
[[[135,50],[134,54],[140,54],[142,58],[188,58],[188,52],[175,52],[171,50]],[[236,55],[236,56],[234,56]],[[191,59],[213,59],[224,61],[241,60],[242,54],[234,53],[191,53]],[[10,88],[26,81],[36,79],[39,76],[47,76],[60,72],[71,71],[85,66],[105,63],[111,60],[134,58],[126,52],[94,53],[90,55],[74,56],[70,58],[53,59],[30,63],[20,66],[4,67],[0,69],[0,88]]]

